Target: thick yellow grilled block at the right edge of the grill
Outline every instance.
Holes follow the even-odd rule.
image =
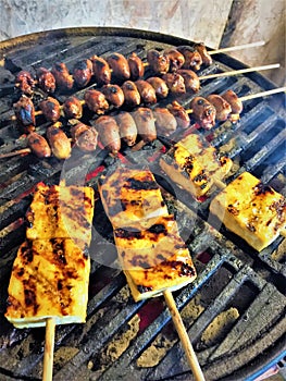
[[[241,173],[211,201],[210,211],[256,250],[286,228],[286,200],[249,172]]]

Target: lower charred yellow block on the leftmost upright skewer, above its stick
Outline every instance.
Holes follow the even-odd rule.
[[[20,246],[5,312],[14,327],[45,327],[50,317],[57,324],[85,322],[90,259],[79,247],[57,237]]]

